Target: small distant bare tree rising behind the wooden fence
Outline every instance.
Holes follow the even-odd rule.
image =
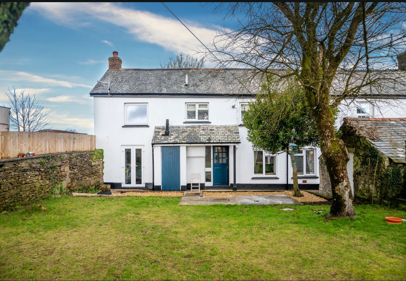
[[[47,116],[50,111],[46,111],[44,107],[38,103],[35,94],[26,94],[25,90],[21,90],[17,94],[16,89],[13,91],[8,88],[9,93],[6,93],[9,98],[9,106],[11,108],[10,127],[17,129],[19,132],[35,132],[45,129],[50,125]]]

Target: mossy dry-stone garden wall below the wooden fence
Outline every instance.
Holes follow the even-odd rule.
[[[98,188],[103,160],[97,157],[94,151],[80,151],[0,160],[0,212],[54,193]]]

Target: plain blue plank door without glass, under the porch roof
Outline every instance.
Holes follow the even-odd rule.
[[[162,190],[180,190],[179,146],[163,146]]]

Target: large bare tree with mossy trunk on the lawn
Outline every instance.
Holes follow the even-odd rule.
[[[333,216],[352,216],[348,151],[335,134],[344,99],[396,96],[405,74],[393,59],[405,48],[405,3],[238,2],[220,4],[239,28],[216,36],[222,66],[252,68],[247,81],[296,77],[317,125],[333,192]],[[272,82],[266,81],[272,88]],[[397,84],[395,84],[397,83]],[[395,86],[398,85],[398,86]],[[279,86],[279,85],[278,85]]]

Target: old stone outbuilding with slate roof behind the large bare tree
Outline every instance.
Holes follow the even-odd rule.
[[[406,118],[344,118],[340,130],[354,195],[404,197]]]

